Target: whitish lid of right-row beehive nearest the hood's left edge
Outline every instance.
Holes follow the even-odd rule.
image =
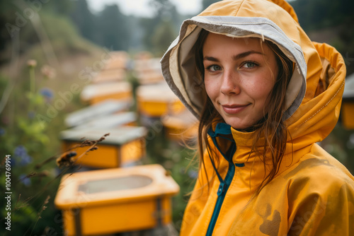
[[[165,82],[140,85],[137,87],[137,97],[142,100],[149,101],[172,102],[178,100],[177,96],[172,92],[171,88],[169,88]]]

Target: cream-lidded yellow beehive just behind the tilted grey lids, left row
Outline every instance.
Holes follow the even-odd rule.
[[[132,85],[125,81],[87,85],[81,99],[91,105],[108,99],[132,101]]]

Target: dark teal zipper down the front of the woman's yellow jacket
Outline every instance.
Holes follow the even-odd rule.
[[[234,163],[229,162],[229,170],[227,170],[227,175],[224,181],[220,182],[219,189],[217,189],[217,202],[215,203],[215,208],[212,213],[212,218],[210,219],[210,223],[207,228],[207,234],[206,234],[207,236],[211,236],[212,232],[214,231],[215,223],[217,223],[217,218],[219,216],[222,203],[224,202],[227,189],[229,189],[232,179],[234,178],[234,173],[235,173]]]

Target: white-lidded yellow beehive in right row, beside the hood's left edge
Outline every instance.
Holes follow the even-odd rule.
[[[137,88],[137,107],[146,117],[177,114],[185,109],[166,83],[140,85]]]

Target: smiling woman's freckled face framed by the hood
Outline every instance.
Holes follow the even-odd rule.
[[[238,130],[256,124],[278,76],[274,52],[256,38],[209,33],[202,53],[205,89],[224,121]]]

